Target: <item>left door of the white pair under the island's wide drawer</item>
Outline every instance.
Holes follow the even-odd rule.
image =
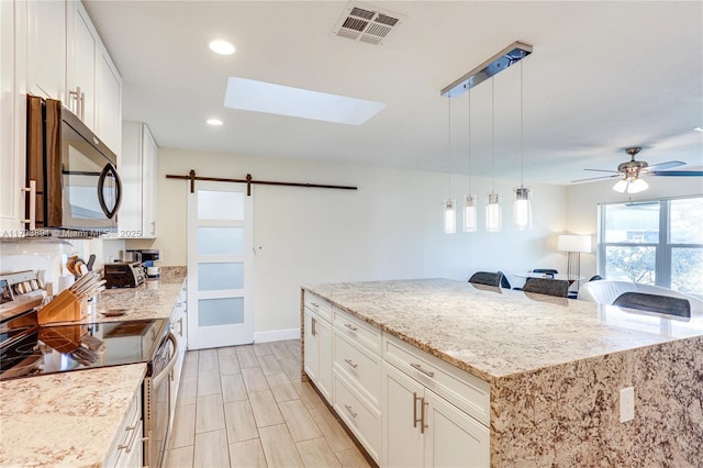
[[[381,414],[384,417],[381,466],[422,466],[423,434],[420,416],[424,388],[384,363],[382,392]]]

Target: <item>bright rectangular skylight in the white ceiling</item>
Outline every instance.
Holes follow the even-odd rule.
[[[324,122],[361,125],[386,108],[383,102],[230,77],[224,97],[230,109]]]

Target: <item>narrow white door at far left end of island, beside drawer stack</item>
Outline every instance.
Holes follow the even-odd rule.
[[[320,393],[332,403],[332,325],[305,309],[305,374]]]

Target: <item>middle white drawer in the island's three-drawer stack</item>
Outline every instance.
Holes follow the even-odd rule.
[[[353,345],[339,330],[335,330],[334,334],[335,369],[378,408],[381,394],[380,356]]]

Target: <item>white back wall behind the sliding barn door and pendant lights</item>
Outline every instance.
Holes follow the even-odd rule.
[[[535,227],[511,226],[515,181],[496,181],[505,196],[501,233],[446,235],[442,202],[449,176],[368,166],[323,164],[159,149],[156,241],[127,241],[127,248],[159,248],[161,265],[187,264],[189,183],[166,174],[357,186],[358,191],[255,186],[256,332],[300,326],[300,286],[331,281],[446,277],[466,280],[476,270],[526,271],[565,267],[555,252],[555,233],[565,230],[566,190],[533,187]],[[467,178],[455,176],[453,196],[460,200]],[[476,179],[472,191],[490,191],[490,180]]]

